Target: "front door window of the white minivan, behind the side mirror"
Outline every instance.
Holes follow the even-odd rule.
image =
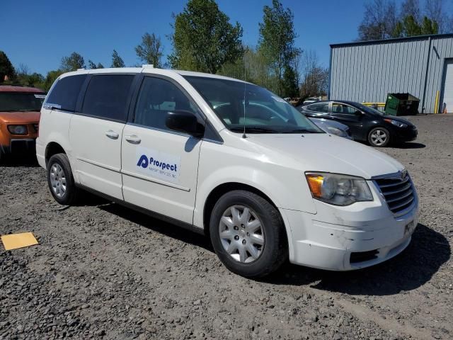
[[[166,127],[168,111],[184,110],[195,114],[195,105],[178,87],[161,78],[144,77],[134,111],[134,123],[169,130]]]

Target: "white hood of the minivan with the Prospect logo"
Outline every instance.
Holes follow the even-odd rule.
[[[395,159],[372,147],[326,133],[249,134],[247,140],[256,146],[256,151],[268,154],[271,162],[301,171],[323,171],[371,179],[404,169]]]

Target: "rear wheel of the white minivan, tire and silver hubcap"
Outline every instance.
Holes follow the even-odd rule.
[[[66,154],[54,154],[47,162],[47,183],[50,193],[62,205],[74,205],[79,198],[71,164]]]

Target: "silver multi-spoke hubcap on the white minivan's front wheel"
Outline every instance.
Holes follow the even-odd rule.
[[[219,235],[225,251],[236,261],[251,263],[263,252],[263,226],[256,213],[243,205],[233,205],[224,211]]]

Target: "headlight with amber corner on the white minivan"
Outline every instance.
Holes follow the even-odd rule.
[[[350,205],[373,200],[365,179],[355,176],[307,172],[311,196],[333,205]]]

